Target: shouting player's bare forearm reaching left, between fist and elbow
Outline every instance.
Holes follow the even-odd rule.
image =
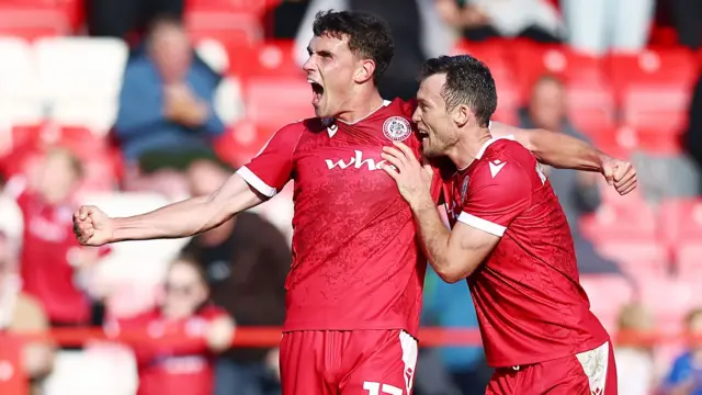
[[[211,196],[173,203],[150,213],[113,218],[112,241],[180,238],[210,230],[227,219]]]

